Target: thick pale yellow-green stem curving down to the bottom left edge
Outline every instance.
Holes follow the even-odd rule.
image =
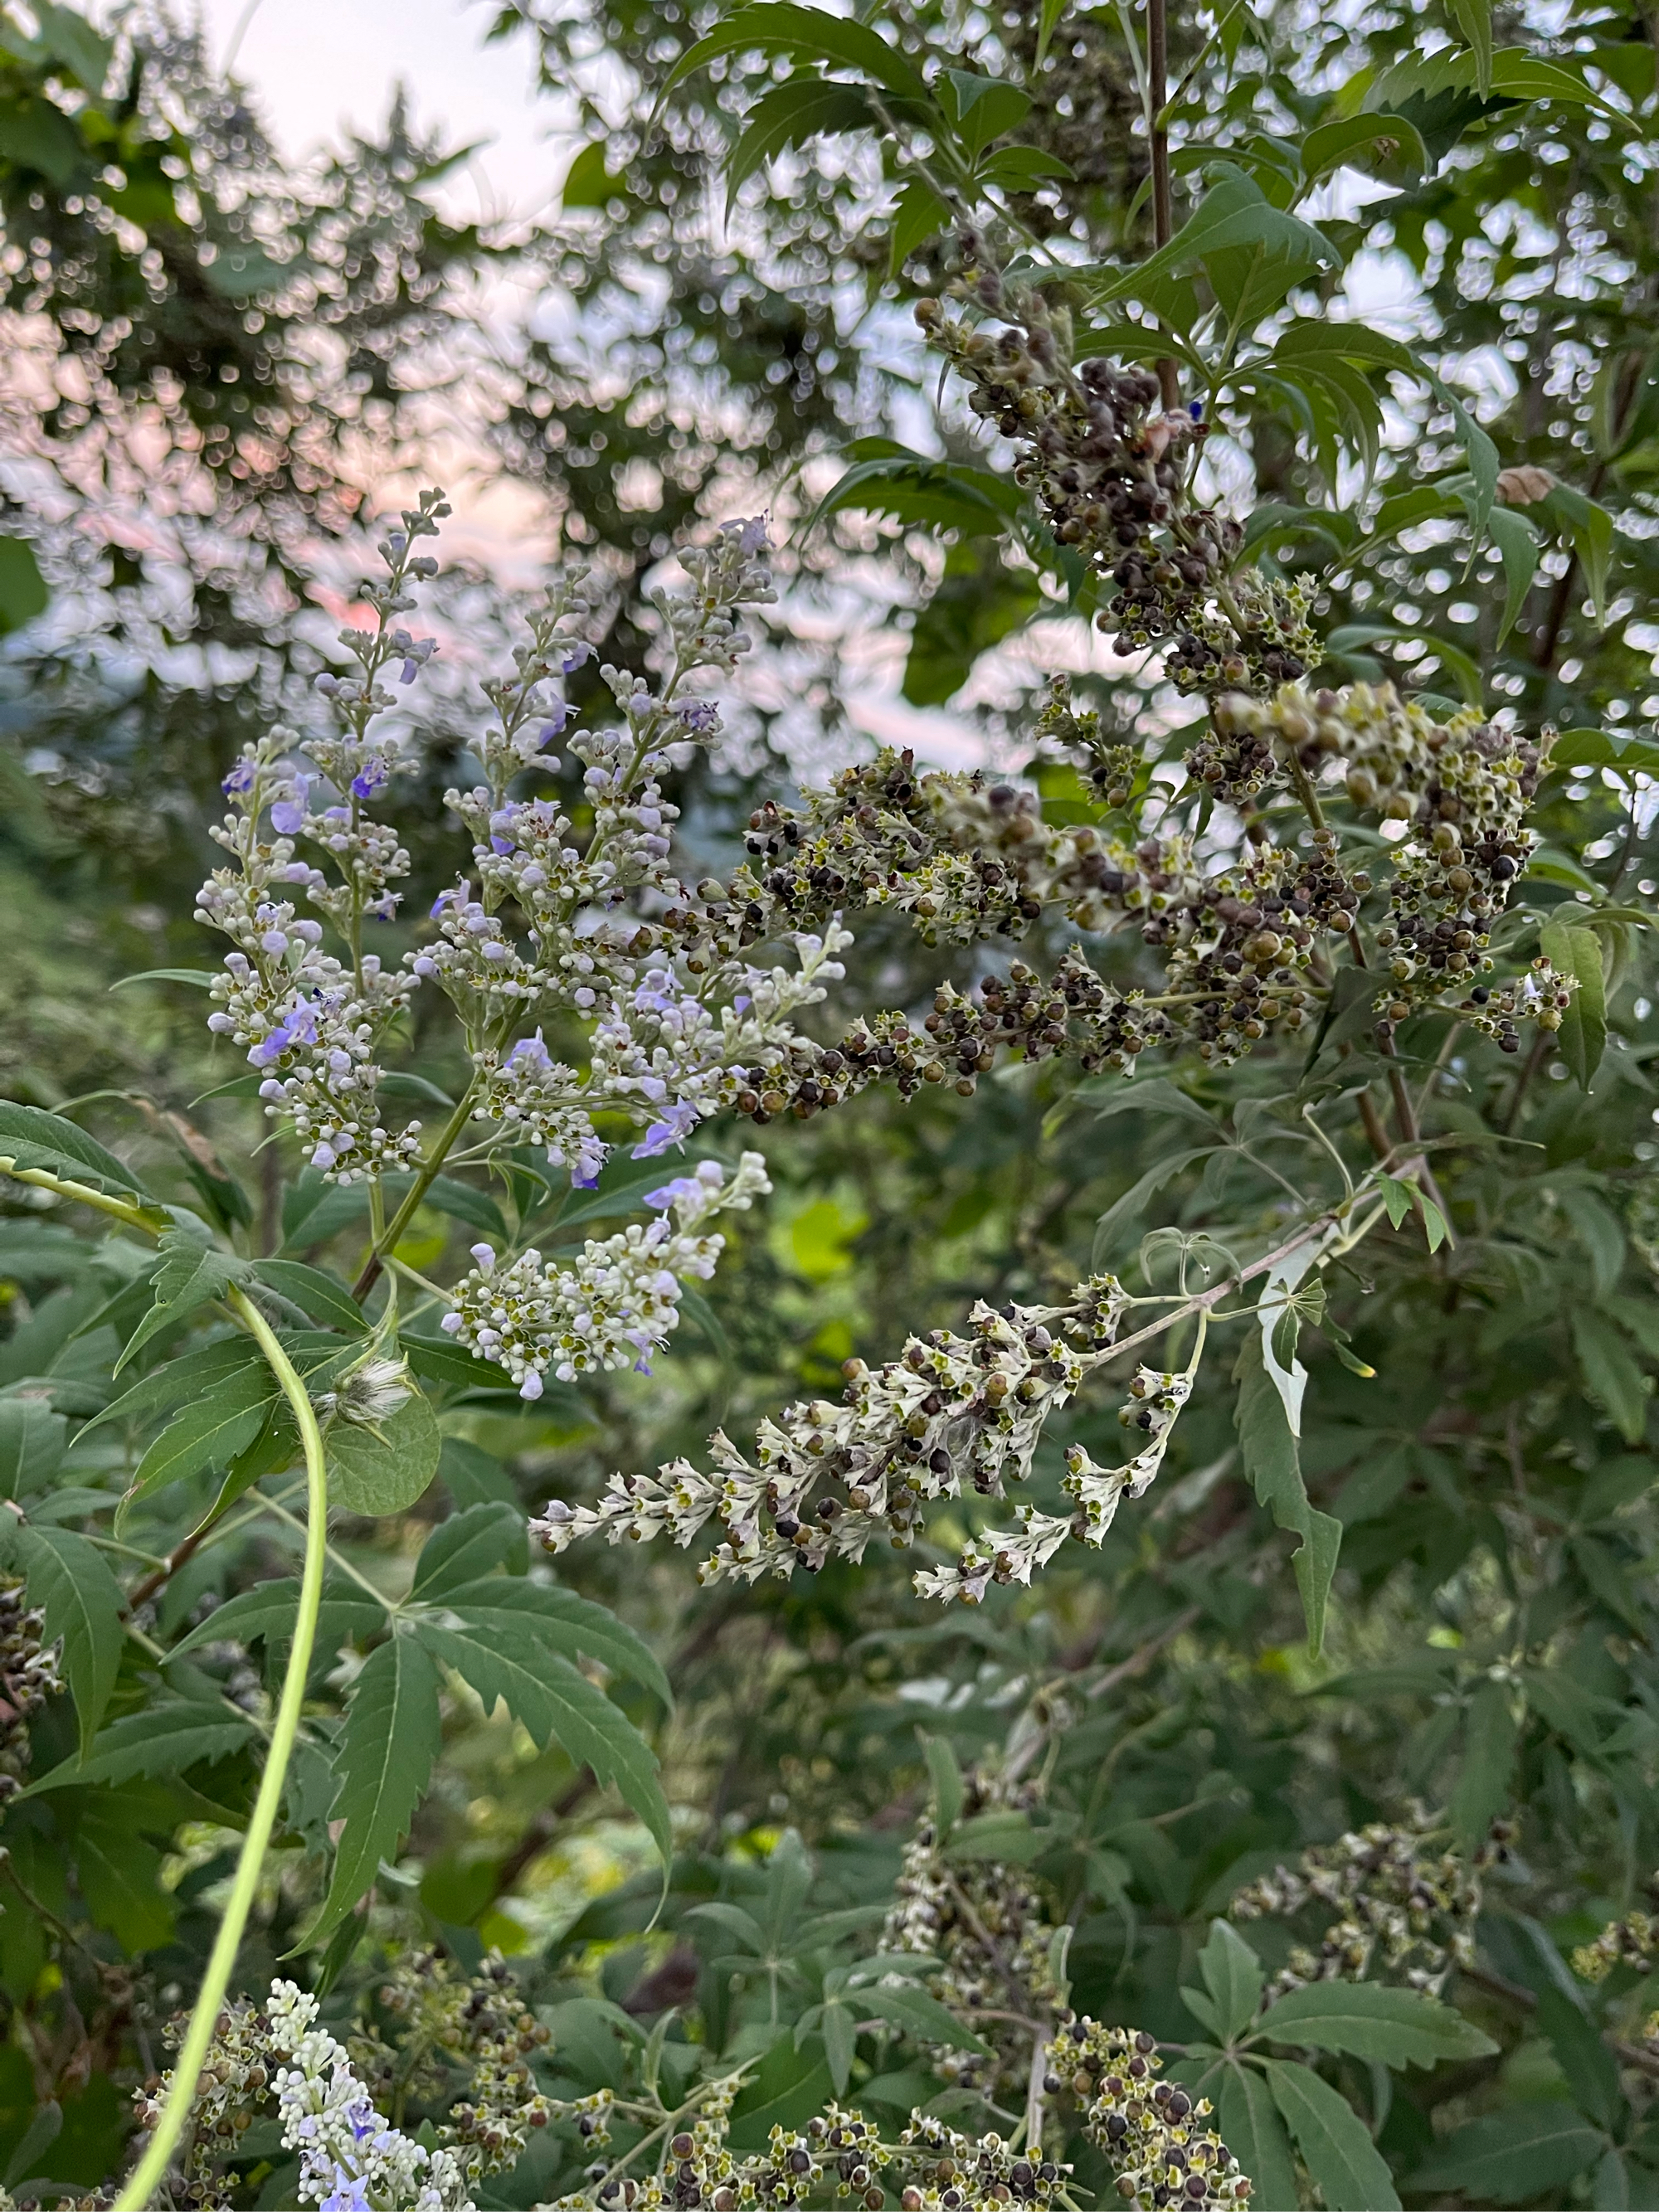
[[[208,1971],[201,1978],[201,1991],[197,1995],[195,2011],[190,2015],[190,2028],[184,2037],[184,2048],[179,2051],[179,2062],[173,2068],[173,2086],[168,2088],[168,2101],[157,2121],[155,2135],[148,2141],[144,2157],[133,2170],[126,2188],[115,2199],[115,2212],[144,2212],[157,2188],[166,2179],[173,2154],[179,2148],[179,2139],[190,2119],[190,2106],[195,2101],[197,2081],[208,2057],[208,2046],[212,2044],[212,2031],[219,2026],[219,2008],[226,2002],[226,1989],[230,1986],[230,1969],[237,1964],[237,1951],[241,1947],[241,1931],[248,1924],[248,1913],[252,1909],[254,1896],[259,1891],[259,1876],[265,1865],[265,1849],[270,1845],[270,1834],[276,1827],[276,1809],[283,1798],[283,1783],[288,1778],[288,1761],[294,1752],[294,1736],[299,1734],[301,1705],[305,1703],[305,1677],[312,1666],[312,1646],[316,1644],[316,1615],[323,1604],[323,1557],[327,1548],[327,1462],[323,1460],[323,1431],[316,1425],[316,1409],[312,1407],[305,1385],[294,1371],[292,1360],[276,1340],[276,1332],[270,1327],[265,1316],[252,1305],[239,1290],[228,1292],[228,1305],[237,1314],[237,1321],[257,1340],[259,1349],[270,1363],[270,1371],[276,1376],[283,1396],[294,1409],[294,1420],[299,1422],[301,1442],[305,1447],[305,1573],[299,1586],[299,1613],[294,1617],[294,1648],[288,1655],[288,1672],[283,1677],[283,1694],[276,1705],[276,1725],[270,1732],[270,1752],[265,1756],[265,1772],[259,1781],[259,1796],[254,1801],[254,1812],[248,1823],[248,1834],[243,1836],[241,1858],[237,1860],[237,1878],[230,1887],[230,1902],[226,1905],[223,1920],[219,1922],[219,1933],[212,1944],[212,1955],[208,1958]]]

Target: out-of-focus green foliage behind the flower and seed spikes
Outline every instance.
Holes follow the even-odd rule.
[[[606,650],[641,644],[628,588],[675,533],[772,502],[794,604],[845,630],[852,575],[909,630],[905,699],[933,706],[1033,617],[1095,611],[1095,586],[1055,557],[960,396],[938,398],[909,334],[909,303],[951,268],[958,206],[989,192],[1015,248],[1060,237],[1073,259],[1106,265],[1093,299],[1079,290],[1079,319],[1113,325],[1099,343],[1135,358],[1172,347],[1183,374],[1199,358],[1199,312],[1234,281],[1194,246],[1141,279],[1135,312],[1102,296],[1152,246],[1117,11],[1002,20],[933,0],[858,11],[931,88],[936,106],[922,113],[918,100],[902,128],[887,111],[902,86],[872,88],[856,49],[814,29],[814,11],[739,9],[734,29],[730,18],[630,0],[502,13],[500,35],[535,51],[586,135],[562,212],[513,237],[431,212],[422,192],[445,153],[418,144],[396,108],[378,144],[285,177],[243,93],[215,84],[175,27],[139,31],[133,18],[106,40],[64,7],[4,18],[7,312],[53,369],[75,374],[44,400],[13,400],[4,429],[0,1086],[18,1104],[64,1108],[157,1197],[204,1210],[248,1254],[349,1279],[363,1221],[349,1197],[292,1179],[279,1148],[259,1150],[257,1108],[204,1102],[237,1068],[210,1055],[188,982],[111,984],[206,964],[190,905],[219,779],[325,664],[312,584],[352,573],[358,518],[385,504],[376,487],[418,449],[445,376],[489,392],[480,436],[498,465],[546,498],[566,546],[615,575]],[[710,44],[690,66],[699,38]],[[1011,97],[987,108],[998,128],[984,144],[936,64],[998,80],[987,102]],[[334,1776],[321,1756],[301,1763],[239,1986],[290,1971],[279,1962],[310,1933],[336,1940],[301,1971],[341,2006],[400,1944],[438,1940],[462,1966],[495,1944],[555,2026],[557,2093],[622,2079],[637,2064],[633,2024],[672,2002],[670,2064],[690,2066],[692,2046],[754,2059],[752,2112],[792,2124],[827,2086],[827,2042],[796,2037],[796,2022],[834,1995],[834,1962],[858,1951],[849,1938],[810,1942],[801,1916],[891,1896],[902,1840],[949,1772],[936,1756],[929,1774],[922,1739],[962,1767],[995,1765],[1011,1728],[1026,1728],[1042,1736],[1044,1796],[991,1840],[1031,1869],[1048,1922],[1071,1927],[1073,2002],[1175,2046],[1212,2031],[1183,1989],[1199,1978],[1214,1993],[1228,1953],[1210,1922],[1243,1882],[1310,1843],[1398,1820],[1411,1798],[1444,1809],[1464,1854],[1493,1818],[1513,1820],[1475,1962],[1447,1991],[1480,2035],[1433,2053],[1431,2070],[1407,2070],[1389,2046],[1394,2073],[1363,2046],[1292,2033],[1270,2044],[1314,2055],[1323,2070],[1303,2095],[1338,2093],[1407,2203],[1644,2203],[1659,2188],[1659,2062],[1641,2039],[1652,1989],[1635,1966],[1593,1989],[1564,1960],[1639,1902],[1659,1865],[1659,991],[1644,781],[1659,768],[1652,24],[1619,4],[1489,18],[1480,0],[1427,13],[1378,4],[1358,29],[1316,7],[1177,11],[1170,77],[1177,221],[1225,184],[1221,161],[1287,221],[1345,164],[1347,186],[1316,215],[1323,257],[1294,226],[1259,223],[1254,290],[1232,299],[1237,374],[1219,418],[1259,555],[1318,582],[1325,679],[1484,695],[1526,730],[1590,732],[1562,748],[1540,799],[1533,938],[1517,931],[1515,949],[1531,956],[1537,927],[1564,920],[1588,933],[1604,1035],[1579,1015],[1559,1046],[1540,1040],[1509,1062],[1440,1018],[1407,1024],[1400,1053],[1453,1239],[1429,1250],[1422,1217],[1407,1214],[1332,1276],[1332,1318],[1376,1378],[1356,1376],[1329,1336],[1303,1334],[1301,1471],[1343,1528],[1323,1650],[1307,1648],[1294,1540],[1245,1480],[1232,1352],[1212,1360],[1159,1486],[1104,1551],[1082,1566],[1062,1557],[1029,1593],[993,1590],[978,1613],[922,1606],[898,1555],[703,1590],[661,1546],[575,1551],[560,1588],[611,1608],[633,1659],[633,1672],[613,1666],[608,1694],[580,1677],[608,1714],[588,1719],[615,1730],[624,1783],[635,1730],[650,1741],[672,1809],[666,1902],[648,1832],[628,1814],[657,1818],[648,1765],[624,1803],[573,1756],[568,1725],[495,1703],[460,1668],[442,1677],[442,1705],[422,1708],[440,1732],[422,1721],[425,1736],[396,1739],[411,1759],[407,1792],[374,1829],[365,1878],[385,1867],[365,1913],[323,1905]],[[918,144],[933,148],[931,166],[911,159]],[[1020,150],[1048,157],[1048,175]],[[940,164],[956,164],[947,190]],[[1387,192],[1365,204],[1356,175]],[[1325,321],[1343,301],[1325,327],[1349,327],[1340,281],[1356,261],[1396,272],[1411,299],[1409,361],[1462,394],[1495,460],[1444,387],[1391,378],[1380,352],[1334,336],[1298,361],[1283,345],[1292,310]],[[564,336],[478,321],[469,281],[504,268],[568,290]],[[646,276],[657,305],[639,327]],[[1166,325],[1157,341],[1152,314]],[[197,522],[155,498],[161,469],[139,480],[137,427],[210,489]],[[1553,489],[1493,507],[1495,462],[1548,471]],[[630,489],[641,471],[644,507]],[[46,480],[62,500],[42,522]],[[24,542],[33,557],[9,551]],[[513,613],[478,575],[440,586],[438,617],[482,639],[480,659]],[[717,869],[737,863],[757,799],[790,792],[785,748],[807,723],[836,728],[834,644],[779,633],[770,655],[792,684],[757,688],[748,765],[695,770],[681,794]],[[805,706],[763,703],[790,692]],[[1168,759],[1194,734],[1192,703],[1157,675],[1088,677],[1077,695],[1121,732],[1166,732]],[[1029,741],[1033,708],[1018,697],[962,712],[995,745]],[[416,801],[414,914],[447,867],[438,792],[471,714],[460,679],[422,712],[431,772]],[[1093,807],[1057,759],[1035,776],[1051,818]],[[975,960],[929,951],[896,916],[867,916],[849,998],[925,1009],[940,978],[980,973]],[[1137,973],[1135,953],[1110,960]],[[900,1106],[872,1093],[772,1128],[761,1141],[776,1197],[732,1232],[657,1378],[602,1378],[580,1400],[529,1411],[473,1374],[429,1376],[438,1478],[400,1511],[347,1513],[334,1533],[356,1579],[330,1588],[338,1635],[314,1672],[316,1741],[336,1725],[394,1741],[396,1721],[367,1703],[374,1690],[396,1712],[396,1683],[380,1681],[394,1659],[380,1655],[405,1668],[436,1668],[434,1657],[411,1657],[425,1648],[409,1639],[380,1644],[343,1717],[334,1655],[376,1635],[358,1584],[403,1599],[453,1515],[498,1526],[491,1564],[522,1577],[520,1509],[591,1498],[613,1467],[697,1458],[714,1422],[745,1433],[787,1398],[834,1394],[847,1356],[880,1363],[911,1332],[960,1327],[973,1298],[1057,1296],[1091,1263],[1128,1272],[1152,1228],[1265,1239],[1283,1179],[1318,1192],[1327,1175],[1301,1106],[1352,1106],[1371,1082],[1380,1097],[1363,1029],[1338,1024],[1312,1051],[1285,1040],[1225,1073],[1175,1060],[1133,1091],[1020,1066],[973,1099],[925,1093]],[[409,1073],[453,1086],[458,1071],[416,1035]],[[737,1137],[723,1130],[712,1148],[734,1152]],[[451,1190],[420,1212],[405,1256],[453,1272],[491,1203]],[[106,1509],[137,1447],[119,1422],[80,1425],[113,1396],[115,1352],[142,1312],[128,1250],[20,1186],[4,1197],[11,1571],[29,1573],[31,1599],[49,1593],[46,1632],[64,1637],[73,1688],[33,1721],[31,1772],[73,1761],[100,1721],[102,1756],[122,1752],[102,1778],[77,1772],[11,1805],[0,1827],[0,2172],[13,2188],[95,2188],[122,2168],[131,2090],[164,2064],[161,2024],[199,1980],[215,1885],[252,1796],[250,1734],[223,1699],[257,1703],[281,1661],[276,1632],[261,1641],[243,1628],[243,1655],[228,1657],[223,1626],[197,1630],[215,1604],[246,1604],[290,1575],[299,1551],[288,1522],[248,1515],[124,1632],[119,1608],[146,1568],[119,1546],[168,1555],[248,1444],[239,1433],[208,1447],[184,1486],[113,1528]],[[64,1462],[71,1427],[88,1442]],[[1106,1394],[1044,1447],[1044,1495],[1057,1495],[1073,1438],[1115,1455]],[[281,1478],[265,1489],[281,1493]],[[495,1522],[489,1509],[502,1509]],[[967,1513],[933,1531],[947,1548],[967,1533]],[[582,1648],[608,1666],[624,1652]],[[790,1832],[799,1845],[779,1840]],[[730,1929],[695,1918],[710,1900],[754,1916],[748,1960],[732,1962]],[[1250,1942],[1272,1973],[1290,1933],[1259,1922]],[[1248,1997],[1219,2042],[1232,2048],[1254,2020]],[[911,2099],[949,2097],[927,2053],[902,2024],[863,2033],[856,2095],[885,2095],[900,2117]],[[1239,2084],[1267,2079],[1219,2064],[1245,2104]],[[1283,2088],[1290,2075],[1274,2079]],[[1285,2097],[1298,2163],[1272,2108],[1230,2117],[1223,2099],[1239,2157],[1250,2166],[1250,2124],[1274,2177],[1256,2177],[1256,2201],[1279,2203],[1276,2183],[1310,2203],[1314,2190],[1327,2205],[1383,2203],[1343,2197],[1338,2152],[1314,2148],[1316,2126]],[[580,2185],[580,2159],[568,2132],[549,2130],[487,2201],[551,2199]],[[1086,2163],[1079,2177],[1110,2188]],[[268,2161],[237,2201],[281,2203],[281,2188]]]

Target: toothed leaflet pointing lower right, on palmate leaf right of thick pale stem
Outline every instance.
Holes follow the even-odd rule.
[[[484,1705],[502,1699],[538,1745],[557,1741],[577,1765],[593,1767],[595,1781],[615,1783],[668,1865],[672,1836],[657,1754],[604,1690],[555,1652],[533,1619],[504,1608],[480,1619],[451,1606],[445,1621],[453,1626],[416,1624],[422,1648],[469,1681]]]

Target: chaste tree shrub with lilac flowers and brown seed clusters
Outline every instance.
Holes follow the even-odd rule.
[[[801,535],[951,533],[940,593],[995,546],[1108,659],[1055,672],[1020,774],[883,750],[765,796],[714,872],[672,794],[774,597],[768,522],[686,538],[580,712],[617,586],[568,564],[407,916],[445,500],[385,531],[319,717],[223,779],[195,909],[274,1203],[181,1117],[153,1161],[0,1104],[4,2190],[1639,2203],[1659,706],[1571,686],[1597,624],[1646,650],[1646,27],[692,29],[661,128],[719,82],[739,217],[818,164],[942,376],[942,453],[854,447]],[[1073,128],[1117,80],[1144,192]],[[1495,358],[1582,425],[1571,471],[1495,367],[1482,427],[1455,343],[1354,312],[1332,177],[1391,186],[1433,283],[1453,246],[1480,270]],[[1429,562],[1467,617],[1407,599]],[[843,960],[894,918],[920,1002]],[[597,1495],[520,1455],[526,1515],[482,1438],[580,1420],[681,1318],[719,1340],[790,1150],[889,1099],[1002,1099],[1066,1161],[998,1294],[860,1316],[748,1447]],[[606,1537],[661,1588],[664,1535],[726,1608],[686,1590],[668,1666],[628,1577],[577,1586]],[[737,1694],[810,1843],[664,1787],[743,1621],[799,1650],[745,1646]],[[526,1856],[471,1893],[400,1865],[498,1708],[659,1860],[520,1964],[493,1907]]]

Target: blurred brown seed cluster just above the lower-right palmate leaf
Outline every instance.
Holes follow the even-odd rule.
[[[1232,1920],[1292,1918],[1312,1907],[1334,1913],[1316,1947],[1290,1953],[1267,1995],[1383,1975],[1440,1995],[1453,1969],[1473,1962],[1484,1876],[1509,1858],[1515,1825],[1493,1820],[1473,1858],[1442,1836],[1444,1820],[1413,1805],[1402,1823],[1374,1820],[1316,1843],[1294,1867],[1248,1882],[1228,1905]]]

